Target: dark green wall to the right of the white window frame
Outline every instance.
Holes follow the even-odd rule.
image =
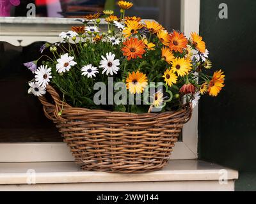
[[[228,5],[228,19],[218,17],[220,3]],[[220,96],[200,101],[199,157],[255,171],[256,1],[201,0],[200,13],[200,34],[226,80]]]

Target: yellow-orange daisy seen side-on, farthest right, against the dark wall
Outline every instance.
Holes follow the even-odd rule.
[[[223,71],[215,71],[212,80],[209,83],[209,95],[217,96],[221,91],[222,87],[224,87],[225,75],[223,75]]]

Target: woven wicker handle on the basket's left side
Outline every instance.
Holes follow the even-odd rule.
[[[51,97],[54,101],[54,104],[47,101],[45,96],[38,97],[38,99],[40,100],[40,102],[44,106],[45,116],[48,119],[53,120],[53,121],[65,120],[61,117],[61,115],[59,113],[61,112],[61,110],[63,108],[69,108],[71,106],[68,105],[67,103],[63,102],[60,99],[60,95],[58,94],[58,92],[55,91],[55,89],[53,87],[51,87],[51,85],[47,85],[46,91],[51,95]]]

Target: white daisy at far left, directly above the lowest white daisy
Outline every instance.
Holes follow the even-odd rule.
[[[52,68],[47,69],[47,65],[41,65],[40,68],[36,69],[35,71],[35,80],[38,82],[39,86],[46,87],[47,84],[50,82]]]

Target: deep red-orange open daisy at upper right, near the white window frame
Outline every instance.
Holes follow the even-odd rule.
[[[182,49],[187,48],[187,45],[188,39],[184,36],[184,34],[173,31],[169,45],[170,49],[181,53]]]

